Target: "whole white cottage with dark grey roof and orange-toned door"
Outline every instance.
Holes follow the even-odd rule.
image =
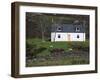
[[[79,24],[54,24],[51,41],[85,41],[85,27]]]

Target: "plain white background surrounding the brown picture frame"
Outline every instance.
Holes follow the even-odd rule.
[[[11,2],[26,1],[40,3],[73,4],[98,6],[100,21],[100,0],[1,0],[0,2],[0,80],[100,80],[100,54],[98,54],[98,73],[81,75],[63,75],[53,77],[21,78],[10,76],[11,68]],[[100,26],[100,23],[98,23]],[[100,27],[98,27],[98,48],[100,48]],[[100,53],[100,49],[98,49]]]

